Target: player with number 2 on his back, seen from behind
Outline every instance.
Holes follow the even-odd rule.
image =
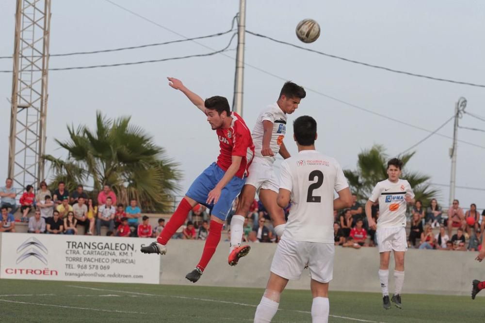
[[[335,254],[333,211],[352,205],[349,185],[337,160],[315,151],[315,120],[299,117],[293,131],[298,155],[281,164],[277,198],[280,207],[286,207],[290,199],[292,206],[255,323],[271,322],[288,280],[300,279],[305,265],[311,275],[312,322],[328,322],[328,283],[333,277]],[[334,200],[335,191],[339,198]]]

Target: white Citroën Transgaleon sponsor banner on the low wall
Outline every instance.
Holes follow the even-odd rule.
[[[158,284],[160,257],[144,238],[1,234],[0,278]]]

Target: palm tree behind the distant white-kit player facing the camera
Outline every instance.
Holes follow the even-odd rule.
[[[413,188],[415,199],[421,200],[423,204],[427,205],[431,199],[436,198],[439,191],[428,183],[430,176],[406,169],[405,165],[414,154],[415,152],[399,156],[404,164],[401,177],[407,180]],[[371,149],[358,154],[356,170],[345,169],[343,171],[351,186],[352,194],[356,194],[357,200],[367,201],[377,182],[388,178],[388,158],[383,146],[374,145]]]

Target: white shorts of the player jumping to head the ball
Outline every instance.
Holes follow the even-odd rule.
[[[276,193],[279,192],[279,181],[276,177],[273,164],[268,161],[255,157],[251,166],[249,166],[249,176],[246,178],[244,185],[253,185],[256,190],[271,189]]]

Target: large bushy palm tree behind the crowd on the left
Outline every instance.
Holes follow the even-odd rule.
[[[67,161],[45,156],[55,174],[53,182],[64,180],[71,189],[92,183],[94,191],[109,184],[123,204],[136,199],[145,210],[163,211],[169,196],[179,189],[178,163],[166,158],[163,148],[129,121],[129,117],[108,119],[98,111],[95,131],[67,126],[69,139],[56,139],[67,151]]]

